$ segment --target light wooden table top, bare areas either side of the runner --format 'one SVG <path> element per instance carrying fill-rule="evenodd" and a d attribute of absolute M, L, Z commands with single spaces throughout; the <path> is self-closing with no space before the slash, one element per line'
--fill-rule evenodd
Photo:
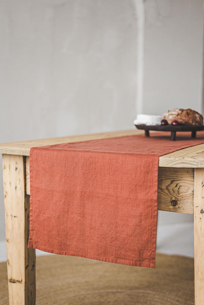
<path fill-rule="evenodd" d="M 29 156 L 31 147 L 54 145 L 60 143 L 95 140 L 102 138 L 121 137 L 125 135 L 138 135 L 143 133 L 143 130 L 124 130 L 103 132 L 89 135 L 77 135 L 62 138 L 48 138 L 39 140 L 29 140 L 21 142 L 11 142 L 0 144 L 0 153 L 9 155 Z M 171 152 L 167 155 L 159 157 L 160 167 L 188 167 L 198 168 L 204 167 L 204 144 L 195 145 L 192 147 L 180 149 L 176 152 Z"/>

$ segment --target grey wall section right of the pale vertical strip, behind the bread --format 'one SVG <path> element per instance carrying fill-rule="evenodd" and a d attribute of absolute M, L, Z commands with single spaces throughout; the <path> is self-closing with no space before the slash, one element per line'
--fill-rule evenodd
<path fill-rule="evenodd" d="M 146 0 L 143 112 L 202 111 L 203 0 Z"/>

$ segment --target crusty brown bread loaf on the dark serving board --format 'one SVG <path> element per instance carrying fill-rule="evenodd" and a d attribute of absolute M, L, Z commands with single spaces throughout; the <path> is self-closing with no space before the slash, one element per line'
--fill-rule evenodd
<path fill-rule="evenodd" d="M 200 113 L 192 109 L 175 108 L 163 114 L 163 118 L 171 124 L 174 120 L 181 125 L 203 125 L 203 117 Z"/>

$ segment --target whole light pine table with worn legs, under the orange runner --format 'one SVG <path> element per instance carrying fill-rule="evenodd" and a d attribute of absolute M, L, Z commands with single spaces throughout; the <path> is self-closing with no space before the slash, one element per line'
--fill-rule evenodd
<path fill-rule="evenodd" d="M 27 247 L 30 148 L 139 133 L 128 130 L 0 144 L 10 305 L 35 304 L 35 249 Z M 194 214 L 195 304 L 204 305 L 204 144 L 159 158 L 158 210 Z"/>

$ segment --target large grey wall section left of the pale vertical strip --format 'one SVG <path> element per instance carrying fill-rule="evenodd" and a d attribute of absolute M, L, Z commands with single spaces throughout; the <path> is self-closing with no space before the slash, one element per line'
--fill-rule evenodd
<path fill-rule="evenodd" d="M 0 14 L 0 142 L 133 127 L 134 1 L 2 0 Z"/>

